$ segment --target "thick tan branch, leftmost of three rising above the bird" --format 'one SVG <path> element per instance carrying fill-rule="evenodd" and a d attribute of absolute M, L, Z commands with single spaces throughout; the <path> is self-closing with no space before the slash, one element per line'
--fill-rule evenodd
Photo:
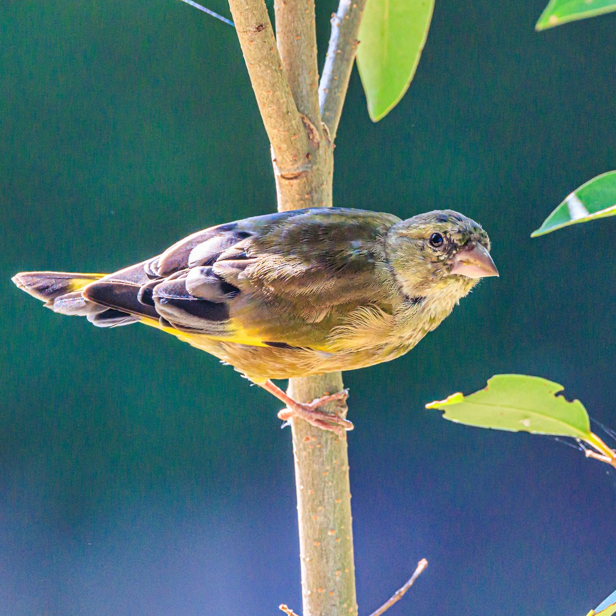
<path fill-rule="evenodd" d="M 241 51 L 278 169 L 301 171 L 314 144 L 293 99 L 263 0 L 229 0 Z"/>

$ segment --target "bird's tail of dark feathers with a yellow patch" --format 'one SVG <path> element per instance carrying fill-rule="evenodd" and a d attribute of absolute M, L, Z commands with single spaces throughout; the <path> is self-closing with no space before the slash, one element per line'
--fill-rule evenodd
<path fill-rule="evenodd" d="M 22 291 L 44 302 L 54 312 L 87 320 L 99 327 L 134 323 L 136 318 L 84 298 L 82 291 L 107 274 L 73 272 L 20 272 L 11 279 Z"/>

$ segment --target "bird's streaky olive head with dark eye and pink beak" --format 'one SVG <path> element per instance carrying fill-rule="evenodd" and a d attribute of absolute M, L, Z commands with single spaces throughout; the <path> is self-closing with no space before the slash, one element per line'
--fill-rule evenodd
<path fill-rule="evenodd" d="M 479 278 L 498 276 L 488 234 L 451 209 L 418 214 L 394 225 L 387 233 L 387 256 L 410 297 L 436 294 L 457 301 Z"/>

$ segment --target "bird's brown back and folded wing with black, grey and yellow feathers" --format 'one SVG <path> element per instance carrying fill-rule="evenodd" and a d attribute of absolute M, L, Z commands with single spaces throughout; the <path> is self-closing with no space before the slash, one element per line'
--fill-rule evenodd
<path fill-rule="evenodd" d="M 84 297 L 230 342 L 320 346 L 347 312 L 386 301 L 384 236 L 398 221 L 342 208 L 247 218 L 110 274 Z"/>

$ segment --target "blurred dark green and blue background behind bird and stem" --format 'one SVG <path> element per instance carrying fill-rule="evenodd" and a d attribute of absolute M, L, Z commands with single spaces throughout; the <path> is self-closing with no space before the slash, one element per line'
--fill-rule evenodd
<path fill-rule="evenodd" d="M 351 79 L 334 203 L 460 209 L 501 274 L 407 356 L 346 374 L 360 614 L 424 556 L 391 616 L 583 616 L 616 587 L 613 469 L 424 408 L 519 372 L 616 426 L 616 219 L 529 237 L 616 167 L 616 15 L 538 34 L 545 1 L 437 0 L 379 124 Z M 317 5 L 323 55 L 335 6 Z M 171 336 L 99 330 L 10 283 L 274 209 L 233 28 L 175 0 L 0 4 L 1 615 L 301 611 L 280 403 Z"/>

